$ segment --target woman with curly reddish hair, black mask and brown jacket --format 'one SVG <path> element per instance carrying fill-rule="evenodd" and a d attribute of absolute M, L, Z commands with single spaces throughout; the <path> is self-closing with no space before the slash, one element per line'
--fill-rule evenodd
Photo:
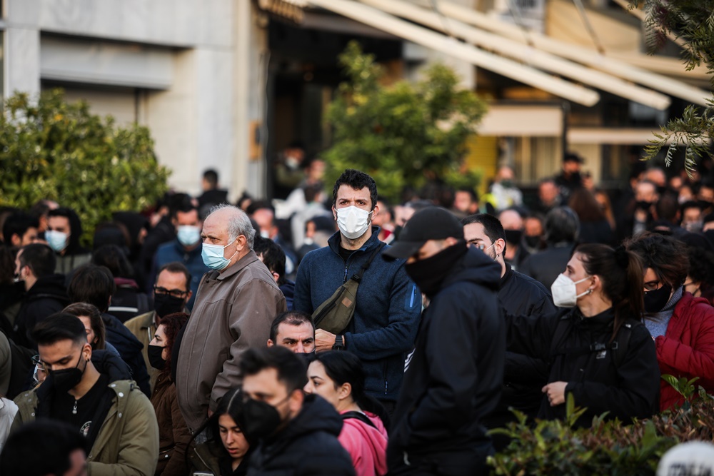
<path fill-rule="evenodd" d="M 188 320 L 186 313 L 165 315 L 159 321 L 154 339 L 149 343 L 147 352 L 151 366 L 160 370 L 156 378 L 151 405 L 156 411 L 159 423 L 159 464 L 156 475 L 186 475 L 186 447 L 191 441 L 191 432 L 178 409 L 176 385 L 171 380 L 171 349 L 174 348 L 176 335 Z"/>

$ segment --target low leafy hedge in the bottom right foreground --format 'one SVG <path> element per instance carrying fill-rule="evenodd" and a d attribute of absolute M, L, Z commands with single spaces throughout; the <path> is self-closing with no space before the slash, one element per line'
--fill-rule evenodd
<path fill-rule="evenodd" d="M 714 397 L 703 389 L 693 390 L 693 380 L 673 383 L 689 400 L 682 407 L 623 425 L 620 420 L 605 420 L 607 413 L 595 417 L 590 428 L 574 428 L 585 409 L 575 407 L 568 395 L 565 420 L 536 420 L 518 417 L 506 428 L 492 433 L 511 437 L 503 452 L 489 457 L 492 474 L 526 475 L 655 475 L 662 455 L 679 442 L 714 440 Z"/>

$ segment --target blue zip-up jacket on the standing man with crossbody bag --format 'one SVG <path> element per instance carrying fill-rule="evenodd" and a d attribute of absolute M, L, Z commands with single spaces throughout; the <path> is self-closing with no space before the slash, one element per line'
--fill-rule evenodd
<path fill-rule="evenodd" d="M 312 314 L 347 279 L 360 270 L 379 245 L 379 228 L 347 262 L 340 256 L 340 232 L 326 248 L 313 250 L 300 263 L 293 309 Z M 385 246 L 365 271 L 357 288 L 355 315 L 345 336 L 345 349 L 357 355 L 367 375 L 367 393 L 396 401 L 421 316 L 421 292 L 404 270 L 404 260 L 388 260 Z"/>

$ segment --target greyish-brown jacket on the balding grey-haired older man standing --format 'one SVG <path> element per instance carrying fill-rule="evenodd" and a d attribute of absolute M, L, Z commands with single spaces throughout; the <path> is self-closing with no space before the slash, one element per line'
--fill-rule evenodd
<path fill-rule="evenodd" d="M 178 406 L 195 432 L 218 400 L 238 385 L 238 363 L 265 347 L 270 325 L 286 310 L 273 275 L 251 251 L 230 268 L 203 275 L 176 362 Z"/>

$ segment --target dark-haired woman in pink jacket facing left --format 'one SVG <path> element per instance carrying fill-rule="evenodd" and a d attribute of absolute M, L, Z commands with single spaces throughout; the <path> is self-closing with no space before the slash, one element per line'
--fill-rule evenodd
<path fill-rule="evenodd" d="M 352 458 L 357 476 L 387 472 L 386 412 L 364 391 L 365 373 L 356 355 L 332 350 L 315 355 L 308 367 L 305 393 L 316 393 L 342 415 L 338 437 Z"/>

